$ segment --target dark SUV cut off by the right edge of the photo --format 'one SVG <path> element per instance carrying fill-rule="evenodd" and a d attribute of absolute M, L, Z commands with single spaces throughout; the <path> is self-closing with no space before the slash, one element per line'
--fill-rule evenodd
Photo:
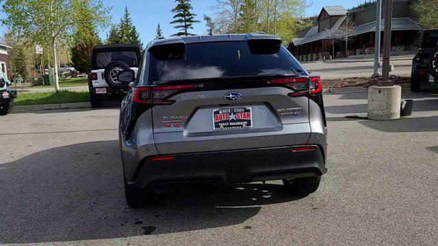
<path fill-rule="evenodd" d="M 438 29 L 422 31 L 412 61 L 411 91 L 420 92 L 422 85 L 430 80 L 438 83 Z"/>

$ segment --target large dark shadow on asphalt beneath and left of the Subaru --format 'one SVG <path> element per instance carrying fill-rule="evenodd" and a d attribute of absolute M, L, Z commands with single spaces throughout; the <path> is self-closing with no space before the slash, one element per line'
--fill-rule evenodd
<path fill-rule="evenodd" d="M 300 199 L 279 184 L 175 189 L 142 209 L 125 203 L 118 141 L 43 150 L 0 164 L 0 243 L 119 238 L 244 223 L 262 204 Z M 243 226 L 242 226 L 243 227 Z"/>

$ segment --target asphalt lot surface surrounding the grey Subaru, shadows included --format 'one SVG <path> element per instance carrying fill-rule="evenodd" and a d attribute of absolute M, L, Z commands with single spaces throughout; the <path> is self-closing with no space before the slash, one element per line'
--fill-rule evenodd
<path fill-rule="evenodd" d="M 308 197 L 278 182 L 178 189 L 134 210 L 123 196 L 117 109 L 1 118 L 0 243 L 436 245 L 438 98 L 412 117 L 347 119 L 366 94 L 326 94 L 329 173 Z"/>

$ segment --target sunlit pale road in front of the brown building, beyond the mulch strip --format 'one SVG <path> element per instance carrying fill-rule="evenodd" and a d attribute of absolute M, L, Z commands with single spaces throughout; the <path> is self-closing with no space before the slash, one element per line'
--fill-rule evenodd
<path fill-rule="evenodd" d="M 400 59 L 401 58 L 401 59 Z M 400 77 L 411 77 L 412 56 L 396 57 L 391 61 L 394 72 L 391 74 Z M 333 60 L 331 62 L 315 61 L 304 63 L 303 66 L 313 75 L 320 75 L 322 79 L 345 79 L 355 77 L 371 77 L 374 73 L 374 61 L 370 59 Z"/>

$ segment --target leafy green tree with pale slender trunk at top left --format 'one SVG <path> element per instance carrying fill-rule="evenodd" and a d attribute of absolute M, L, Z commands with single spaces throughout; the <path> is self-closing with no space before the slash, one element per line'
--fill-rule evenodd
<path fill-rule="evenodd" d="M 80 23 L 89 21 L 96 26 L 107 23 L 109 8 L 102 0 L 4 0 L 1 6 L 6 17 L 1 23 L 16 35 L 38 44 L 50 44 L 55 65 L 55 90 L 60 90 L 57 57 L 58 44 L 70 42 Z M 92 12 L 84 20 L 79 12 Z"/>

